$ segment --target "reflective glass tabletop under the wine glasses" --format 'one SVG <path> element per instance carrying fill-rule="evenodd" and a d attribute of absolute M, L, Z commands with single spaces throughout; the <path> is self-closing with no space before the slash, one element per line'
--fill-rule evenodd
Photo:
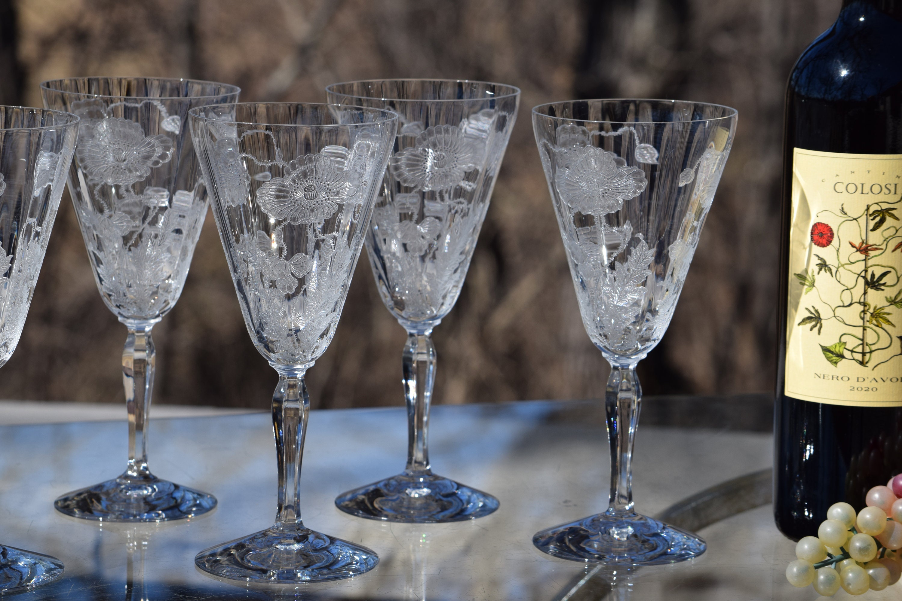
<path fill-rule="evenodd" d="M 649 412 L 649 415 L 653 415 Z M 338 511 L 342 491 L 391 475 L 406 457 L 401 407 L 313 411 L 304 453 L 305 524 L 377 551 L 373 571 L 344 581 L 244 587 L 195 569 L 198 551 L 272 523 L 276 496 L 268 414 L 154 420 L 152 469 L 210 492 L 210 514 L 167 524 L 99 524 L 53 510 L 53 499 L 114 477 L 124 423 L 0 427 L 0 533 L 5 544 L 54 555 L 59 581 L 21 599 L 809 599 L 783 575 L 794 545 L 769 506 L 701 531 L 708 551 L 674 566 L 624 572 L 557 560 L 542 528 L 603 510 L 608 451 L 603 406 L 534 401 L 433 408 L 435 469 L 492 493 L 501 508 L 454 524 L 389 524 Z M 635 457 L 638 509 L 680 499 L 771 464 L 769 433 L 643 424 Z M 578 475 L 578 476 L 577 476 Z M 895 587 L 893 587 L 895 588 Z M 892 588 L 870 592 L 890 598 Z"/>

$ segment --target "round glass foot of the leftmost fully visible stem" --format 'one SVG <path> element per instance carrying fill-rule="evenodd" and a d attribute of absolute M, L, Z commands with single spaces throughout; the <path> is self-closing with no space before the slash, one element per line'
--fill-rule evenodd
<path fill-rule="evenodd" d="M 216 507 L 216 497 L 152 475 L 122 475 L 60 496 L 53 506 L 86 520 L 164 522 L 206 514 Z"/>

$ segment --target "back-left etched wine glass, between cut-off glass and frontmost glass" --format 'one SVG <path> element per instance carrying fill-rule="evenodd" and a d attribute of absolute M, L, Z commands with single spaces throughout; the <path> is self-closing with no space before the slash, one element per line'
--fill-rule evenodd
<path fill-rule="evenodd" d="M 118 478 L 60 496 L 63 514 L 159 522 L 204 514 L 216 498 L 147 467 L 156 352 L 151 331 L 179 300 L 207 190 L 185 120 L 235 102 L 235 86 L 192 79 L 77 77 L 41 84 L 44 105 L 81 117 L 69 195 L 106 306 L 128 329 L 122 354 L 128 465 Z"/>

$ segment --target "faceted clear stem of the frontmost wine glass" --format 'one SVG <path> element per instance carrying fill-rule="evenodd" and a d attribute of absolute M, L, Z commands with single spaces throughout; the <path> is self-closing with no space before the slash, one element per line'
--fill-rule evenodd
<path fill-rule="evenodd" d="M 279 501 L 276 528 L 299 530 L 300 467 L 304 457 L 304 436 L 310 411 L 310 397 L 304 374 L 307 367 L 279 366 L 279 384 L 272 394 L 272 429 L 279 461 Z"/>

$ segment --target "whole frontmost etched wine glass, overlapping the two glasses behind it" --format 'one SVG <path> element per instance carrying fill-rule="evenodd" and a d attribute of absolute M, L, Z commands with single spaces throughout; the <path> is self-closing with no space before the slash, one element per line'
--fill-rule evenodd
<path fill-rule="evenodd" d="M 239 104 L 190 112 L 247 331 L 279 373 L 272 425 L 275 524 L 201 551 L 222 578 L 302 582 L 373 569 L 365 547 L 314 532 L 300 516 L 309 398 L 304 374 L 335 334 L 398 117 L 360 106 Z"/>

